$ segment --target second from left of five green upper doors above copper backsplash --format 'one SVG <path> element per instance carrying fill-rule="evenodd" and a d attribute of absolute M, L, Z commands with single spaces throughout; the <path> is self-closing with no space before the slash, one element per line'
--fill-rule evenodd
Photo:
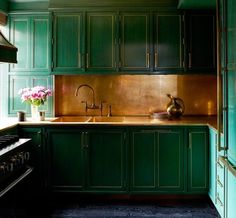
<path fill-rule="evenodd" d="M 115 70 L 116 17 L 113 13 L 87 15 L 87 70 Z"/>

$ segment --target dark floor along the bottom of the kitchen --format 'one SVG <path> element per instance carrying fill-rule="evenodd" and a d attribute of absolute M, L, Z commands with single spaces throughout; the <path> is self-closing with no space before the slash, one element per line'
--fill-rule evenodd
<path fill-rule="evenodd" d="M 217 218 L 208 198 L 195 200 L 128 200 L 58 196 L 11 196 L 0 200 L 0 218 Z"/>

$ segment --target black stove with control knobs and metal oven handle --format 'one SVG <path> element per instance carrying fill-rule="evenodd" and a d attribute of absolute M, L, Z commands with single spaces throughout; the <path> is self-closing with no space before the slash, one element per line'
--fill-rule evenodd
<path fill-rule="evenodd" d="M 30 142 L 18 135 L 0 136 L 0 197 L 32 173 Z"/>

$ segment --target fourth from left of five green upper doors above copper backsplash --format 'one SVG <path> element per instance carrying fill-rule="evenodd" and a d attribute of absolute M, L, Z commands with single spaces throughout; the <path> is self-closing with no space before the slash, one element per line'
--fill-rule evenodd
<path fill-rule="evenodd" d="M 155 70 L 182 68 L 181 15 L 155 16 Z"/>

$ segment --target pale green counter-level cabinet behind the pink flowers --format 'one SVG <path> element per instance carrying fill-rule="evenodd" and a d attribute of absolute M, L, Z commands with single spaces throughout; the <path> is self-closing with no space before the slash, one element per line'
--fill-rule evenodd
<path fill-rule="evenodd" d="M 20 89 L 34 86 L 45 86 L 53 89 L 53 78 L 50 75 L 9 75 L 8 78 L 9 116 L 16 116 L 17 111 L 24 111 L 27 116 L 30 116 L 30 104 L 22 102 L 21 96 L 18 94 Z M 53 116 L 53 96 L 48 97 L 45 104 L 40 106 L 40 110 L 44 110 L 46 116 Z"/>

